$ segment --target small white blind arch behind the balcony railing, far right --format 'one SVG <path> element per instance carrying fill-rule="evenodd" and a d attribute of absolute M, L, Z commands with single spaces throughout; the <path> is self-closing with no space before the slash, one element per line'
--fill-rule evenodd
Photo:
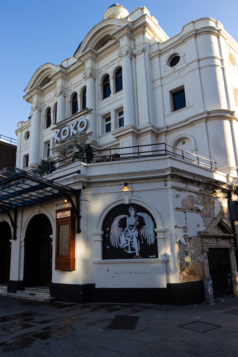
<path fill-rule="evenodd" d="M 188 154 L 189 152 L 195 155 L 197 154 L 195 140 L 192 135 L 181 134 L 176 136 L 176 138 L 173 139 L 171 146 L 174 146 L 174 148 L 172 149 L 174 154 L 178 154 L 180 156 L 195 160 L 195 157 L 193 155 Z"/>

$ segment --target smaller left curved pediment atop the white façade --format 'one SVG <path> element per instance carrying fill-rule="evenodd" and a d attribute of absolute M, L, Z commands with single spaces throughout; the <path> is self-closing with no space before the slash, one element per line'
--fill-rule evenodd
<path fill-rule="evenodd" d="M 46 63 L 42 65 L 34 75 L 31 77 L 29 84 L 27 85 L 24 92 L 28 93 L 35 86 L 42 88 L 48 83 L 50 83 L 51 75 L 60 69 L 60 66 L 55 66 L 51 63 Z"/>

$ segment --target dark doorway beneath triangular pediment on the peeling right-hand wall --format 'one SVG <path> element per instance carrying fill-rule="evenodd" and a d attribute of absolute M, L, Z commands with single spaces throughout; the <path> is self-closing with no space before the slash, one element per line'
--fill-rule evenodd
<path fill-rule="evenodd" d="M 214 299 L 233 295 L 229 248 L 209 248 L 208 262 Z"/>

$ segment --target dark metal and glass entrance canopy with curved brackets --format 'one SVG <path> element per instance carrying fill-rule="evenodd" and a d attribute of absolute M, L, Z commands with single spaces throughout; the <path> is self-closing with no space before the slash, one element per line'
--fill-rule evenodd
<path fill-rule="evenodd" d="M 12 239 L 16 239 L 17 210 L 54 201 L 65 196 L 74 210 L 77 232 L 80 232 L 79 198 L 80 190 L 39 177 L 31 172 L 7 167 L 0 171 L 0 213 L 7 214 L 13 227 Z M 71 196 L 75 196 L 75 203 Z M 10 215 L 14 211 L 14 217 Z"/>

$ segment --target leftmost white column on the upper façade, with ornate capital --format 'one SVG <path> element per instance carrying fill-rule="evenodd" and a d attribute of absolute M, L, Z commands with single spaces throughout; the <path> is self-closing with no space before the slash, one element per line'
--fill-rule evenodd
<path fill-rule="evenodd" d="M 39 164 L 40 156 L 40 112 L 41 105 L 36 103 L 31 107 L 31 129 L 29 147 L 29 166 Z"/>

